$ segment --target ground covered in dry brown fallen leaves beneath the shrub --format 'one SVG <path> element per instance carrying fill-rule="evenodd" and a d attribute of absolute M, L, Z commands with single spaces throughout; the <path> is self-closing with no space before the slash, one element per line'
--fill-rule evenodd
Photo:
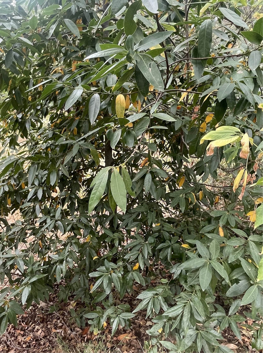
<path fill-rule="evenodd" d="M 134 293 L 126 294 L 122 303 L 129 303 L 131 311 L 138 305 L 137 295 L 143 288 L 134 286 Z M 153 324 L 145 319 L 146 311 L 139 311 L 131 319 L 131 328 L 119 327 L 111 335 L 108 325 L 98 335 L 89 331 L 89 326 L 79 328 L 70 315 L 70 309 L 82 307 L 80 301 L 59 303 L 57 300 L 58 286 L 55 293 L 50 295 L 49 301 L 33 304 L 29 309 L 24 306 L 24 314 L 18 315 L 18 326 L 8 326 L 6 333 L 0 337 L 0 352 L 3 353 L 142 353 L 146 352 L 144 342 L 149 341 L 146 330 Z M 54 307 L 56 310 L 54 311 Z M 246 319 L 239 323 L 241 340 L 230 329 L 223 331 L 224 340 L 220 342 L 233 350 L 233 353 L 257 352 L 251 347 L 253 335 L 252 320 L 245 312 L 239 312 Z M 250 328 L 251 327 L 251 328 Z M 173 337 L 170 337 L 173 342 Z M 175 343 L 175 342 L 174 342 Z"/>

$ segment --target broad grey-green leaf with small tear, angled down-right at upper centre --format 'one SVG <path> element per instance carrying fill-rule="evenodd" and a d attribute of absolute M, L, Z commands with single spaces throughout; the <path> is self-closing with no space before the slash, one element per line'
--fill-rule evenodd
<path fill-rule="evenodd" d="M 148 80 L 154 88 L 163 92 L 164 84 L 161 72 L 150 56 L 145 54 L 136 54 L 134 58 L 136 59 L 139 70 L 142 72 L 146 80 Z"/>

